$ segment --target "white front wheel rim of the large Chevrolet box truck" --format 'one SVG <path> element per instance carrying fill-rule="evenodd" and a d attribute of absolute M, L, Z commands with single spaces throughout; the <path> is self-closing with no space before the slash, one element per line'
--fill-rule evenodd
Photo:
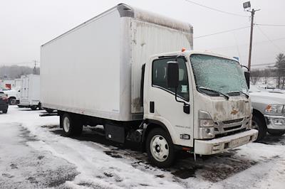
<path fill-rule="evenodd" d="M 169 155 L 169 145 L 161 135 L 155 135 L 150 141 L 150 153 L 156 161 L 165 161 Z"/>

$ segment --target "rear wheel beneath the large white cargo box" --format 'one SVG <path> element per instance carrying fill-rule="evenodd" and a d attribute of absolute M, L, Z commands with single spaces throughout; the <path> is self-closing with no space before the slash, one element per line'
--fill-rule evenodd
<path fill-rule="evenodd" d="M 83 124 L 77 117 L 71 117 L 70 114 L 65 113 L 61 116 L 61 126 L 65 136 L 80 136 L 83 129 Z"/>

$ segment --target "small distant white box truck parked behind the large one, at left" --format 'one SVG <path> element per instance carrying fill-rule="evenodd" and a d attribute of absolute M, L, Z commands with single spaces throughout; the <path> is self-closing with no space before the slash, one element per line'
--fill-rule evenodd
<path fill-rule="evenodd" d="M 21 76 L 21 96 L 19 107 L 29 107 L 33 110 L 41 109 L 40 102 L 40 76 L 22 75 Z"/>

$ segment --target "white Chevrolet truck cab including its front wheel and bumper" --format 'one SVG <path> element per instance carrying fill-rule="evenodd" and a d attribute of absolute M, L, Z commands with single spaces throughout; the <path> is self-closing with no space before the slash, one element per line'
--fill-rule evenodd
<path fill-rule="evenodd" d="M 152 163 L 170 163 L 172 148 L 209 155 L 257 139 L 237 60 L 185 50 L 154 55 L 142 70 L 144 119 L 147 127 L 160 129 L 147 132 Z"/>

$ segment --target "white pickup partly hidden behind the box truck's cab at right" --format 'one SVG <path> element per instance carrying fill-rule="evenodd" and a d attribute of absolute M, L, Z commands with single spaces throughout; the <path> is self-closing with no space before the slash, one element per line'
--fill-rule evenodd
<path fill-rule="evenodd" d="M 249 95 L 253 107 L 252 128 L 259 131 L 257 141 L 266 132 L 273 136 L 285 134 L 285 95 L 261 91 L 255 86 L 250 87 Z"/>

